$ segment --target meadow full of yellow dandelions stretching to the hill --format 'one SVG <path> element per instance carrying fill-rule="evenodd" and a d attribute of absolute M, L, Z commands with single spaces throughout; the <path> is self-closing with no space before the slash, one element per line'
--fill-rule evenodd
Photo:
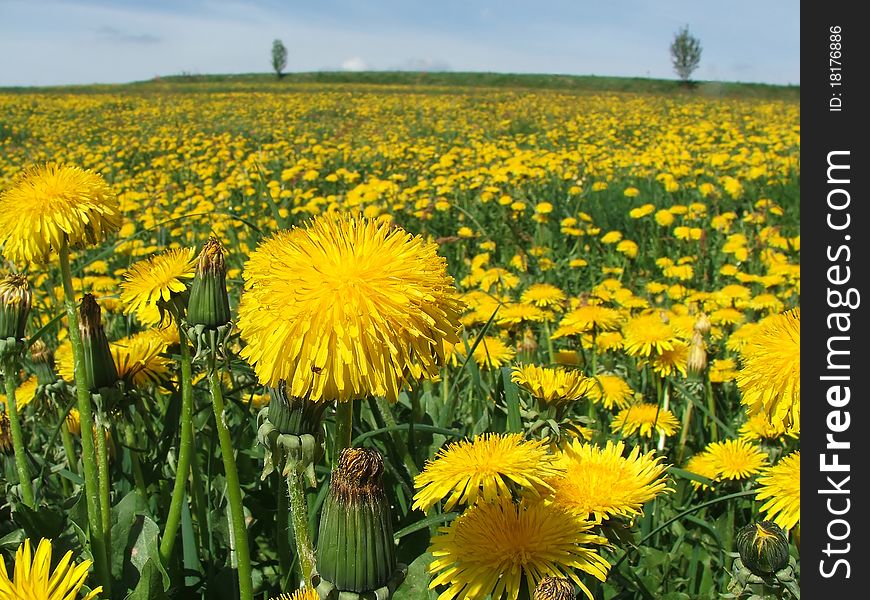
<path fill-rule="evenodd" d="M 799 597 L 799 122 L 0 93 L 0 598 Z"/>

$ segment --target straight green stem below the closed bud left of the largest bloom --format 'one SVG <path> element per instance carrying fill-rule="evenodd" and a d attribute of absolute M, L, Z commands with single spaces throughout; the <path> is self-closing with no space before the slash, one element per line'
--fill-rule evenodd
<path fill-rule="evenodd" d="M 236 542 L 236 559 L 239 569 L 239 600 L 253 600 L 254 583 L 251 575 L 251 557 L 248 551 L 248 530 L 245 526 L 245 512 L 242 505 L 242 488 L 239 485 L 239 473 L 236 469 L 236 459 L 233 455 L 233 442 L 227 429 L 224 414 L 224 397 L 221 392 L 221 382 L 215 369 L 215 356 L 209 356 L 208 383 L 211 391 L 212 407 L 214 408 L 215 428 L 221 446 L 221 456 L 224 461 L 224 475 L 227 480 L 227 499 L 230 505 L 230 519 L 233 526 L 233 537 Z"/>

